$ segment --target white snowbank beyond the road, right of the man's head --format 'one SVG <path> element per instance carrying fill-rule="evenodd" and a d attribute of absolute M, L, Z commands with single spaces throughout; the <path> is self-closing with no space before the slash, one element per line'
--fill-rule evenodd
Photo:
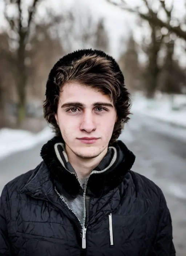
<path fill-rule="evenodd" d="M 133 96 L 132 112 L 186 127 L 186 95 L 173 95 L 172 104 L 169 95 L 159 93 L 154 100 L 148 100 L 138 92 Z"/>

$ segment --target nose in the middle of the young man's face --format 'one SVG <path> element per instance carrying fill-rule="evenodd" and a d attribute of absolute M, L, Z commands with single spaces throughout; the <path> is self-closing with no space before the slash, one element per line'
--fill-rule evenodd
<path fill-rule="evenodd" d="M 80 130 L 91 133 L 96 130 L 96 124 L 93 118 L 93 114 L 89 111 L 85 111 L 82 116 L 82 122 L 80 124 Z"/>

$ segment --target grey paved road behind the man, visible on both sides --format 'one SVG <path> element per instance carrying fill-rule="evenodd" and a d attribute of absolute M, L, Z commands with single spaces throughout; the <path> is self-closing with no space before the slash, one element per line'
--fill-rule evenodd
<path fill-rule="evenodd" d="M 137 156 L 133 171 L 153 180 L 164 192 L 177 256 L 186 256 L 186 131 L 135 114 L 120 139 Z M 41 146 L 0 161 L 0 191 L 9 180 L 40 163 Z"/>

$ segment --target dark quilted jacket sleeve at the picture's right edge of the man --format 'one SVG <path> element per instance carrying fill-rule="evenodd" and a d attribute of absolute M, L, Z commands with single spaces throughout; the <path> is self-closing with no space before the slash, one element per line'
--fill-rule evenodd
<path fill-rule="evenodd" d="M 153 244 L 151 256 L 175 256 L 173 244 L 172 220 L 163 193 L 159 204 L 159 223 L 157 236 Z"/>

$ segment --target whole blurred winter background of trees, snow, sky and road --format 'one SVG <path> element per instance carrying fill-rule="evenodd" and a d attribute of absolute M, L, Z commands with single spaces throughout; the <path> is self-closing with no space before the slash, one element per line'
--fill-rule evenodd
<path fill-rule="evenodd" d="M 120 139 L 165 194 L 186 255 L 186 0 L 0 0 L 0 193 L 40 163 L 48 73 L 66 53 L 112 55 L 132 95 Z"/>

